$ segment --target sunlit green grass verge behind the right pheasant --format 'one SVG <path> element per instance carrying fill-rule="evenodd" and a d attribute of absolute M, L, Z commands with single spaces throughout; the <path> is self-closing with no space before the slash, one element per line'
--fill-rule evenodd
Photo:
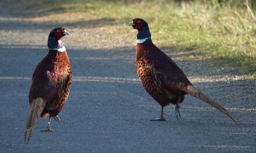
<path fill-rule="evenodd" d="M 152 39 L 161 46 L 193 48 L 190 54 L 220 60 L 247 77 L 256 77 L 255 3 L 246 0 L 193 1 L 44 1 L 52 12 L 83 12 L 99 18 L 129 23 L 133 18 L 148 21 Z M 249 1 L 250 2 L 250 1 Z M 38 6 L 37 6 L 38 7 Z M 121 29 L 130 32 L 130 29 Z M 120 33 L 122 33 L 120 32 Z"/>

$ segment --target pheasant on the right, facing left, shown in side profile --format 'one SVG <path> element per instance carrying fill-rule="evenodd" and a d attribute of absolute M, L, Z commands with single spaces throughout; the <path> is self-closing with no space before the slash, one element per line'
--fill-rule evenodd
<path fill-rule="evenodd" d="M 191 96 L 208 103 L 229 116 L 236 123 L 240 123 L 222 105 L 216 103 L 206 94 L 196 89 L 184 72 L 152 43 L 150 28 L 143 19 L 133 19 L 129 26 L 138 30 L 136 46 L 136 70 L 145 90 L 161 105 L 161 116 L 151 121 L 166 121 L 163 118 L 163 107 L 174 104 L 176 118 L 181 118 L 179 108 L 184 96 Z"/>

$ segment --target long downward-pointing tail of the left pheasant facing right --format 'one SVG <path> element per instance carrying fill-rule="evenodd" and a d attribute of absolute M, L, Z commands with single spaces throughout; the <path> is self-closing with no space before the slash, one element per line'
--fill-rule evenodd
<path fill-rule="evenodd" d="M 29 119 L 27 120 L 27 125 L 24 132 L 24 140 L 26 144 L 29 143 L 31 134 L 35 128 L 35 123 L 37 122 L 37 119 L 39 118 L 45 107 L 44 100 L 42 100 L 41 97 L 34 99 L 31 104 L 32 105 L 30 108 Z"/>

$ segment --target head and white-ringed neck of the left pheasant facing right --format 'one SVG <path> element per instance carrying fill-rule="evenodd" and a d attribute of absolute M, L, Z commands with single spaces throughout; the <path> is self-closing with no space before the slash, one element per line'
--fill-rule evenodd
<path fill-rule="evenodd" d="M 64 52 L 66 50 L 63 45 L 61 38 L 65 35 L 70 35 L 64 28 L 54 28 L 48 37 L 48 48 L 50 50 L 58 50 L 59 52 Z"/>

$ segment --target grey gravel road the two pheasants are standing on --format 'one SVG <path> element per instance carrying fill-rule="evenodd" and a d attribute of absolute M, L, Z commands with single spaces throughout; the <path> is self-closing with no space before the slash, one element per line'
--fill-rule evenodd
<path fill-rule="evenodd" d="M 107 24 L 52 23 L 45 16 L 20 17 L 3 5 L 0 9 L 0 152 L 256 152 L 254 79 L 230 74 L 209 60 L 183 60 L 182 52 L 169 50 L 194 86 L 219 101 L 243 126 L 191 96 L 181 105 L 181 120 L 169 105 L 166 122 L 150 122 L 159 117 L 160 106 L 138 82 L 136 31 L 115 34 L 111 30 L 116 26 L 130 27 L 110 19 Z M 61 122 L 52 122 L 58 132 L 40 132 L 47 128 L 47 120 L 40 118 L 26 145 L 31 75 L 48 52 L 49 31 L 59 26 L 71 34 L 63 38 L 74 76 L 70 96 L 59 114 Z"/>

